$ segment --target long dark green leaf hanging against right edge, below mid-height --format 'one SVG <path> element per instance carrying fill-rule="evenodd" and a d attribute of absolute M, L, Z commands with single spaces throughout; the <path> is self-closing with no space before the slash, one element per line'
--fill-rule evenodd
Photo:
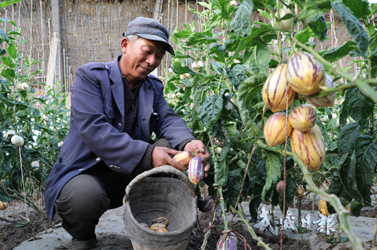
<path fill-rule="evenodd" d="M 377 143 L 373 140 L 369 135 L 361 135 L 355 145 L 357 186 L 365 200 L 369 200 L 370 197 L 374 168 L 377 163 Z"/>

